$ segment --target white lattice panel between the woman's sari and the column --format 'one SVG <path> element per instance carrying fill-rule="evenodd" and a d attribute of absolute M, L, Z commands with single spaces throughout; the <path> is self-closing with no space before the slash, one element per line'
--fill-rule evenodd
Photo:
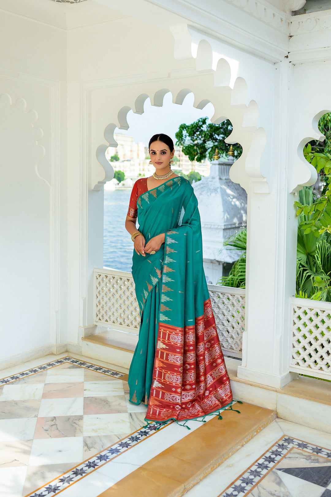
<path fill-rule="evenodd" d="M 208 290 L 223 352 L 241 357 L 245 330 L 245 289 L 208 285 Z"/>

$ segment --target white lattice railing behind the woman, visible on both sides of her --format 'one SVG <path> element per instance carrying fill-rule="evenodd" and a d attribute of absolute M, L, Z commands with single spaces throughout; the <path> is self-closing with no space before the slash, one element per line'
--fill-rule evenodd
<path fill-rule="evenodd" d="M 94 324 L 138 334 L 139 306 L 132 273 L 94 269 Z M 245 289 L 208 285 L 224 355 L 241 357 L 245 324 Z"/>

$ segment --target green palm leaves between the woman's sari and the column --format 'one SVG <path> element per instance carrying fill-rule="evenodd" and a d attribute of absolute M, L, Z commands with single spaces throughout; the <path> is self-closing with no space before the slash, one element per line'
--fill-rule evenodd
<path fill-rule="evenodd" d="M 224 246 L 236 250 L 243 250 L 239 259 L 236 260 L 230 269 L 228 276 L 223 276 L 217 281 L 218 285 L 232 286 L 234 288 L 245 288 L 246 284 L 246 247 L 247 247 L 247 230 L 241 230 L 232 237 L 225 240 Z"/>

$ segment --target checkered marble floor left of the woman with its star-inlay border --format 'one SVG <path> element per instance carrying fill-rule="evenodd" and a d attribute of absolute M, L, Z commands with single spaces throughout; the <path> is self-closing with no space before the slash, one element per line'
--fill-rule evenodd
<path fill-rule="evenodd" d="M 0 495 L 52 497 L 155 433 L 127 379 L 71 357 L 0 379 Z"/>

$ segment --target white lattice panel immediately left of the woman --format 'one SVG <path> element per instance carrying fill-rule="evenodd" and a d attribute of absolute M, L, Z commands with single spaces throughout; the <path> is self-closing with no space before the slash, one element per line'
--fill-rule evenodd
<path fill-rule="evenodd" d="M 139 306 L 131 273 L 95 269 L 95 325 L 138 333 Z"/>

